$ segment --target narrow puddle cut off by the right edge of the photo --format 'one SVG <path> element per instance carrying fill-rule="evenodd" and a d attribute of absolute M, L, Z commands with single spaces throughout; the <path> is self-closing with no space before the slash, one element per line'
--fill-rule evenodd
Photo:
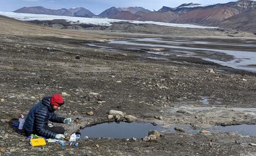
<path fill-rule="evenodd" d="M 228 133 L 235 132 L 244 136 L 256 136 L 256 125 L 231 125 L 231 126 L 216 126 L 211 128 L 213 133 Z"/>

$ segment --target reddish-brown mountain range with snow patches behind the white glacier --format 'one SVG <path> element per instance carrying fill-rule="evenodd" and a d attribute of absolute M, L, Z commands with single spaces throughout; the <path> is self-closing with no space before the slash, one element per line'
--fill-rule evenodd
<path fill-rule="evenodd" d="M 202 6 L 201 4 L 185 3 L 178 7 L 163 6 L 157 11 L 144 9 L 143 7 L 111 7 L 95 15 L 83 7 L 72 9 L 46 9 L 44 7 L 22 7 L 15 10 L 18 13 L 67 15 L 75 17 L 114 18 L 121 20 L 142 20 L 154 22 L 190 23 L 237 30 L 249 30 L 255 32 L 256 2 L 240 0 L 224 4 Z M 242 22 L 241 22 L 242 20 Z M 247 23 L 244 25 L 244 23 Z M 247 28 L 249 27 L 249 29 Z"/>

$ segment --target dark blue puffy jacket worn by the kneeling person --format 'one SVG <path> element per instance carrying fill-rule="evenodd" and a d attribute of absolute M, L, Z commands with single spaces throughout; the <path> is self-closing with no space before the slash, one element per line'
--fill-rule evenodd
<path fill-rule="evenodd" d="M 46 138 L 55 138 L 56 133 L 45 128 L 48 121 L 63 123 L 64 118 L 57 117 L 50 104 L 51 97 L 44 97 L 41 102 L 30 109 L 23 129 L 27 135 L 38 134 Z"/>

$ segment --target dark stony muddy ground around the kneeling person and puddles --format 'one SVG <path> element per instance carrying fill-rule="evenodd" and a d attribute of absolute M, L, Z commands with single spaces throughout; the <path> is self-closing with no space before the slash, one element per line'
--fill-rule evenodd
<path fill-rule="evenodd" d="M 152 59 L 145 57 L 141 49 L 129 51 L 118 44 L 114 49 L 90 46 L 104 39 L 152 37 L 142 32 L 81 32 L 91 33 L 93 40 L 82 35 L 68 37 L 72 35 L 68 30 L 56 31 L 61 31 L 61 35 L 64 31 L 69 33 L 66 38 L 1 33 L 0 155 L 256 154 L 255 136 L 213 131 L 220 125 L 256 123 L 256 73 L 198 57 L 169 55 L 168 60 Z M 153 35 L 156 36 L 161 35 Z M 223 36 L 202 35 L 196 39 L 242 42 L 241 38 Z M 255 42 L 254 36 L 245 37 Z M 154 141 L 89 138 L 80 139 L 78 147 L 54 143 L 32 147 L 11 121 L 19 118 L 20 113 L 27 115 L 42 97 L 55 92 L 62 93 L 66 101 L 56 113 L 74 119 L 70 125 L 64 125 L 68 134 L 95 123 L 113 121 L 108 119 L 109 110 L 136 117 L 132 121 L 161 125 L 164 131 Z"/>

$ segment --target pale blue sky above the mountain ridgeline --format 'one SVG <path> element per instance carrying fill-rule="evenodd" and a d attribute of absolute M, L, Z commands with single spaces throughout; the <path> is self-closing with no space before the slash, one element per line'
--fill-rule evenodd
<path fill-rule="evenodd" d="M 100 14 L 109 7 L 144 7 L 148 10 L 159 10 L 163 6 L 177 7 L 183 3 L 198 4 L 226 3 L 233 0 L 0 0 L 0 11 L 12 12 L 21 7 L 43 6 L 48 9 L 69 9 L 84 7 L 93 14 Z M 237 0 L 234 0 L 237 1 Z"/>

